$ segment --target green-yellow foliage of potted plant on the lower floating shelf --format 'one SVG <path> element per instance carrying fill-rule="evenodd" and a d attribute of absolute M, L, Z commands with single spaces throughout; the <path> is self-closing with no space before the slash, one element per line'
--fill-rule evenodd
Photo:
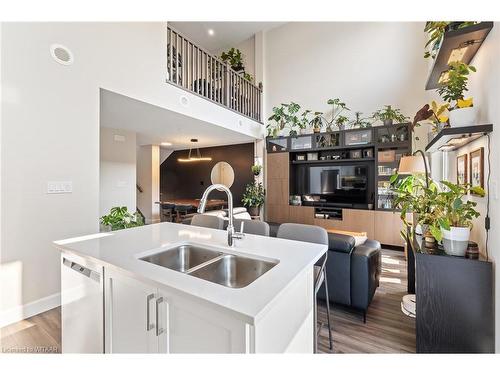
<path fill-rule="evenodd" d="M 472 106 L 472 99 L 465 100 L 464 93 L 468 91 L 469 74 L 475 71 L 475 67 L 462 62 L 455 61 L 449 64 L 444 83 L 437 92 L 449 103 L 450 110 Z"/>

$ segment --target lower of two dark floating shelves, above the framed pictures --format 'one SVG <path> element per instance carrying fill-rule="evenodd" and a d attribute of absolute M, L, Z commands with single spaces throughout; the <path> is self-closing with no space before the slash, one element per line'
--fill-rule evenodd
<path fill-rule="evenodd" d="M 492 124 L 444 128 L 429 142 L 425 151 L 454 151 L 492 131 Z"/>

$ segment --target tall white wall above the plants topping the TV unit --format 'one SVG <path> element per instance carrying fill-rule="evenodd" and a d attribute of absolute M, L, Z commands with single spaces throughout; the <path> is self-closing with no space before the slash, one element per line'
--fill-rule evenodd
<path fill-rule="evenodd" d="M 289 101 L 328 112 L 326 101 L 336 97 L 352 113 L 368 116 L 392 104 L 413 118 L 429 99 L 423 28 L 419 22 L 296 22 L 271 29 L 265 33 L 266 118 Z"/>

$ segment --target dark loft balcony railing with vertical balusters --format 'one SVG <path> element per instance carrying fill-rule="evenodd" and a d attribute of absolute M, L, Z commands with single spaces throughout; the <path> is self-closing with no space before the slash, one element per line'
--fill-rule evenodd
<path fill-rule="evenodd" d="M 262 122 L 259 87 L 171 27 L 167 43 L 168 83 Z"/>

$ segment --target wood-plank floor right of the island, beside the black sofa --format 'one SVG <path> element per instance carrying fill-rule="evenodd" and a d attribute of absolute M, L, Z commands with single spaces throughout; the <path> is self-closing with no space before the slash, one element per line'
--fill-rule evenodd
<path fill-rule="evenodd" d="M 415 319 L 401 312 L 406 294 L 406 260 L 403 252 L 382 250 L 380 286 L 368 308 L 366 324 L 361 313 L 333 306 L 331 322 L 334 353 L 415 353 Z M 326 305 L 318 306 L 318 349 L 330 353 Z"/>

